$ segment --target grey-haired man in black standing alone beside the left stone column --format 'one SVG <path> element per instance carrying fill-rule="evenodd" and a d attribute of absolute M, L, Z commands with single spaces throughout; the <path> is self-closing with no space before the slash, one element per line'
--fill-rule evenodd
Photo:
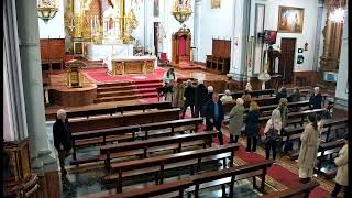
<path fill-rule="evenodd" d="M 56 121 L 53 125 L 53 136 L 54 146 L 58 153 L 62 174 L 66 175 L 65 158 L 72 154 L 73 139 L 66 111 L 64 109 L 57 111 Z"/>

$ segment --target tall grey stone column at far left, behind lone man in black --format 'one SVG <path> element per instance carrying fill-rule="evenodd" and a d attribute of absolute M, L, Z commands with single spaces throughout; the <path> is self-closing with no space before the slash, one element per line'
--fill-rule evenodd
<path fill-rule="evenodd" d="M 56 163 L 51 156 L 45 129 L 45 110 L 36 0 L 15 1 L 25 116 L 33 168 Z"/>

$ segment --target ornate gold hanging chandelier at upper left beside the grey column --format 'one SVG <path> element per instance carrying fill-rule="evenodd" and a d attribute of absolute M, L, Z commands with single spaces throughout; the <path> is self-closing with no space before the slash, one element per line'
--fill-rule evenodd
<path fill-rule="evenodd" d="M 53 19 L 58 11 L 58 6 L 56 0 L 38 0 L 37 1 L 37 15 L 41 18 L 45 23 L 48 20 Z"/>

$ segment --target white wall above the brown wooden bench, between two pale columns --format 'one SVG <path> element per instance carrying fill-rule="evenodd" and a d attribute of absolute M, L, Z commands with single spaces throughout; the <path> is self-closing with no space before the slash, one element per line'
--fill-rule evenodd
<path fill-rule="evenodd" d="M 220 9 L 211 9 L 211 0 L 201 1 L 199 62 L 206 62 L 206 55 L 211 54 L 212 38 L 231 38 L 233 3 L 234 0 L 221 0 Z"/>

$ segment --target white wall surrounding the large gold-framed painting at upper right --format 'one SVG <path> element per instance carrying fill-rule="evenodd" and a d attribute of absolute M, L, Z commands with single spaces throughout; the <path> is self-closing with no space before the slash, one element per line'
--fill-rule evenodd
<path fill-rule="evenodd" d="M 279 6 L 297 7 L 305 9 L 302 33 L 277 33 L 276 46 L 280 46 L 280 40 L 283 37 L 297 38 L 294 70 L 311 70 L 316 51 L 315 41 L 318 14 L 318 0 L 267 0 L 265 7 L 265 30 L 277 30 Z M 308 43 L 308 51 L 304 51 L 302 53 L 305 62 L 302 64 L 297 64 L 297 50 L 304 48 L 306 42 Z M 276 46 L 274 45 L 274 48 Z"/>

